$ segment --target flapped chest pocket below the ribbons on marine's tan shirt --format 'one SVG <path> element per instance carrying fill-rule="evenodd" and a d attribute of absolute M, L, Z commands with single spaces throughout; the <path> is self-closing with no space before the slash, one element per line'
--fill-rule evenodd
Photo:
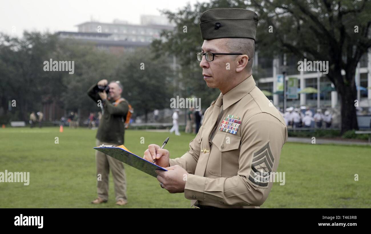
<path fill-rule="evenodd" d="M 210 152 L 207 170 L 219 177 L 236 176 L 239 168 L 241 137 L 217 130 Z"/>

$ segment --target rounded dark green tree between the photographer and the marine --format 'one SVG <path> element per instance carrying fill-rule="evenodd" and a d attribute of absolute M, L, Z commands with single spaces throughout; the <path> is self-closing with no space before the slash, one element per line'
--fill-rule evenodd
<path fill-rule="evenodd" d="M 126 98 L 135 114 L 147 114 L 154 109 L 170 107 L 171 69 L 166 56 L 157 57 L 149 48 L 138 48 L 124 54 L 115 77 L 122 81 Z"/>

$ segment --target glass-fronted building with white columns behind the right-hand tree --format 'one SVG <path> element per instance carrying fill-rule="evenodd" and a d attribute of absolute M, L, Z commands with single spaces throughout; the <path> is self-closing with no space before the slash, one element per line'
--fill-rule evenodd
<path fill-rule="evenodd" d="M 294 106 L 309 106 L 319 108 L 336 108 L 339 107 L 339 96 L 336 91 L 331 90 L 329 86 L 334 87 L 331 81 L 322 73 L 317 71 L 298 71 L 298 61 L 301 59 L 295 57 L 287 57 L 287 66 L 283 68 L 283 56 L 279 58 L 259 57 L 256 52 L 255 66 L 258 68 L 259 81 L 257 86 L 261 90 L 267 90 L 273 95 L 268 97 L 273 100 L 275 106 L 283 107 L 283 95 L 277 92 L 278 76 L 286 71 L 286 84 L 289 77 L 298 79 L 298 90 L 306 87 L 319 88 L 319 102 L 317 93 L 298 94 L 298 99 L 287 99 L 287 107 Z M 254 71 L 255 73 L 255 71 Z M 342 74 L 345 74 L 342 71 Z M 356 85 L 357 85 L 357 100 L 364 102 L 371 99 L 371 51 L 364 54 L 358 63 L 356 70 Z M 287 87 L 287 85 L 286 85 Z M 367 101 L 366 101 L 367 102 Z M 318 106 L 319 104 L 319 106 Z"/>

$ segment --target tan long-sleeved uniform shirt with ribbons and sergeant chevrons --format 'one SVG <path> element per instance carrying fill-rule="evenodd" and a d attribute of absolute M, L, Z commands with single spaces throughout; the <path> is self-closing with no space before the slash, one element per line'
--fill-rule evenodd
<path fill-rule="evenodd" d="M 190 173 L 184 196 L 192 200 L 191 206 L 198 201 L 220 208 L 259 208 L 273 183 L 267 174 L 257 173 L 277 171 L 286 140 L 283 117 L 250 76 L 219 95 L 205 111 L 190 149 L 170 159 L 170 166 L 179 165 Z"/>

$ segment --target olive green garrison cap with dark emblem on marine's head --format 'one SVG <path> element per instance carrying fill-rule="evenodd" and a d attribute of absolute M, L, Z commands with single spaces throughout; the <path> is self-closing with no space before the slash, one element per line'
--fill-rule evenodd
<path fill-rule="evenodd" d="M 203 40 L 217 38 L 250 38 L 255 41 L 259 17 L 254 11 L 242 8 L 216 8 L 200 16 Z"/>

